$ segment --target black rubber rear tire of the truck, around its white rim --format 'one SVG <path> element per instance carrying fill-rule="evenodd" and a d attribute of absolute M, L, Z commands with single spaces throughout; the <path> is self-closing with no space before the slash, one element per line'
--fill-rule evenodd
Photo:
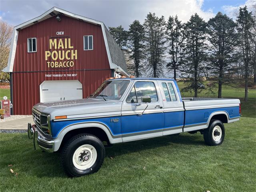
<path fill-rule="evenodd" d="M 213 130 L 215 127 L 221 128 L 221 137 L 218 141 L 214 140 Z M 207 129 L 204 130 L 204 142 L 210 146 L 221 145 L 225 137 L 225 128 L 220 120 L 211 120 Z"/>

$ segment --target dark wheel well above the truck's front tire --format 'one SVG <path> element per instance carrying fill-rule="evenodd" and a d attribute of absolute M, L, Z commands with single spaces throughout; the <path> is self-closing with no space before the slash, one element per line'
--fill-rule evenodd
<path fill-rule="evenodd" d="M 101 128 L 98 127 L 86 127 L 86 128 L 78 128 L 78 129 L 74 129 L 74 130 L 70 130 L 69 132 L 67 132 L 64 136 L 64 138 L 62 139 L 62 142 L 60 144 L 60 148 L 59 150 L 62 148 L 62 146 L 73 136 L 77 135 L 77 134 L 81 134 L 81 133 L 89 133 L 89 134 L 93 134 L 94 136 L 98 137 L 102 142 L 107 142 L 108 144 L 110 144 L 109 140 L 108 140 L 108 136 L 106 134 L 106 132 L 104 130 L 102 130 Z"/>

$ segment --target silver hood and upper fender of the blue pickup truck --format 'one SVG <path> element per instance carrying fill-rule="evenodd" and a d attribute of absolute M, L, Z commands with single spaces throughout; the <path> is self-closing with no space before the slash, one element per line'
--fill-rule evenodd
<path fill-rule="evenodd" d="M 50 114 L 51 120 L 55 116 L 68 116 L 68 118 L 82 118 L 102 116 L 106 113 L 121 112 L 122 102 L 101 99 L 79 99 L 57 102 L 38 103 L 33 108 L 41 113 Z"/>

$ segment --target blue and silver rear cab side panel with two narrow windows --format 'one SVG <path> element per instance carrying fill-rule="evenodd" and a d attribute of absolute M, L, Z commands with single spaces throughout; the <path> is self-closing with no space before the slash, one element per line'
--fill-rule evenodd
<path fill-rule="evenodd" d="M 158 82 L 164 104 L 164 132 L 170 135 L 182 132 L 184 108 L 173 81 Z"/>

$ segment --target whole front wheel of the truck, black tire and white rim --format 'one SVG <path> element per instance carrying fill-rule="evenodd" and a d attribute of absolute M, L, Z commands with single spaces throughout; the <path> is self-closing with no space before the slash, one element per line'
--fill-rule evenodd
<path fill-rule="evenodd" d="M 105 148 L 101 140 L 91 134 L 72 137 L 62 149 L 62 166 L 72 177 L 97 172 L 105 158 Z"/>

